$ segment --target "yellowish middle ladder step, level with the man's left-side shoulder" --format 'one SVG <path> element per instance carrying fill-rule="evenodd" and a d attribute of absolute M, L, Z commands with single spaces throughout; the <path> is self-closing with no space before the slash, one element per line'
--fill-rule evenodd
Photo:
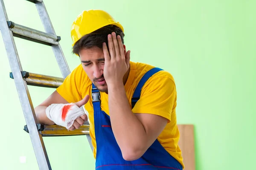
<path fill-rule="evenodd" d="M 58 88 L 64 81 L 64 78 L 29 73 L 27 71 L 21 71 L 21 74 L 27 85 L 38 87 Z M 10 78 L 14 79 L 12 72 L 10 73 Z"/>

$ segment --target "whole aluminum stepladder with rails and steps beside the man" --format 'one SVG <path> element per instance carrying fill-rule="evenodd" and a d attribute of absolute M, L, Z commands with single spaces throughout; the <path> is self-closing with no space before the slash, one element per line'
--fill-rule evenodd
<path fill-rule="evenodd" d="M 65 127 L 58 125 L 42 125 L 37 123 L 38 121 L 35 116 L 28 85 L 57 88 L 64 81 L 64 78 L 70 74 L 70 69 L 67 65 L 63 51 L 61 50 L 61 46 L 59 44 L 61 37 L 57 36 L 54 31 L 43 0 L 27 1 L 35 3 L 45 32 L 28 28 L 26 26 L 21 26 L 12 21 L 9 21 L 3 0 L 0 0 L 0 30 L 12 71 L 10 73 L 10 77 L 14 79 L 26 121 L 24 130 L 29 133 L 39 169 L 51 170 L 52 168 L 47 156 L 46 148 L 44 146 L 43 136 L 86 135 L 91 149 L 93 149 L 93 146 L 91 144 L 91 138 L 89 135 L 88 121 L 85 122 L 84 125 L 79 129 L 74 131 L 68 131 Z M 61 70 L 62 78 L 23 71 L 17 48 L 15 46 L 14 37 L 19 37 L 25 40 L 51 46 L 56 61 L 58 62 L 58 66 Z"/>

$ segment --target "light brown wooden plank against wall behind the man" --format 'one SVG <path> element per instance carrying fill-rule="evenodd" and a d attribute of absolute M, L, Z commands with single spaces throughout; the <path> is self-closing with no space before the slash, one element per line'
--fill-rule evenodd
<path fill-rule="evenodd" d="M 184 170 L 195 170 L 194 125 L 178 125 L 180 141 L 178 142 L 185 164 Z"/>

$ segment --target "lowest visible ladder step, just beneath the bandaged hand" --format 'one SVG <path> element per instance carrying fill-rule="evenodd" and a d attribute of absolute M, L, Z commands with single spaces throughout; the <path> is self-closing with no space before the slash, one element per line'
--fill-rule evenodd
<path fill-rule="evenodd" d="M 43 125 L 37 124 L 38 131 L 42 136 L 74 136 L 74 135 L 89 135 L 90 125 L 82 125 L 78 129 L 73 131 L 67 130 L 66 127 L 59 125 Z M 27 125 L 24 126 L 24 130 L 29 133 Z"/>

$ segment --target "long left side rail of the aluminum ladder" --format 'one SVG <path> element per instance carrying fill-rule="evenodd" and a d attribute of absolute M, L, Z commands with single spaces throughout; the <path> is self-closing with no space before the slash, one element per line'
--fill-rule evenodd
<path fill-rule="evenodd" d="M 36 125 L 36 116 L 33 109 L 31 97 L 28 91 L 28 87 L 21 75 L 22 67 L 20 59 L 17 53 L 14 37 L 12 31 L 9 30 L 7 25 L 8 16 L 3 0 L 0 0 L 0 30 L 5 44 L 6 53 L 9 59 L 9 64 L 14 76 L 14 81 L 17 89 L 17 93 L 20 99 L 20 104 L 23 110 L 23 114 L 29 128 L 29 136 L 34 148 L 35 156 L 38 161 L 38 166 L 41 170 L 51 170 L 47 151 L 44 146 L 42 136 L 38 132 Z"/>

